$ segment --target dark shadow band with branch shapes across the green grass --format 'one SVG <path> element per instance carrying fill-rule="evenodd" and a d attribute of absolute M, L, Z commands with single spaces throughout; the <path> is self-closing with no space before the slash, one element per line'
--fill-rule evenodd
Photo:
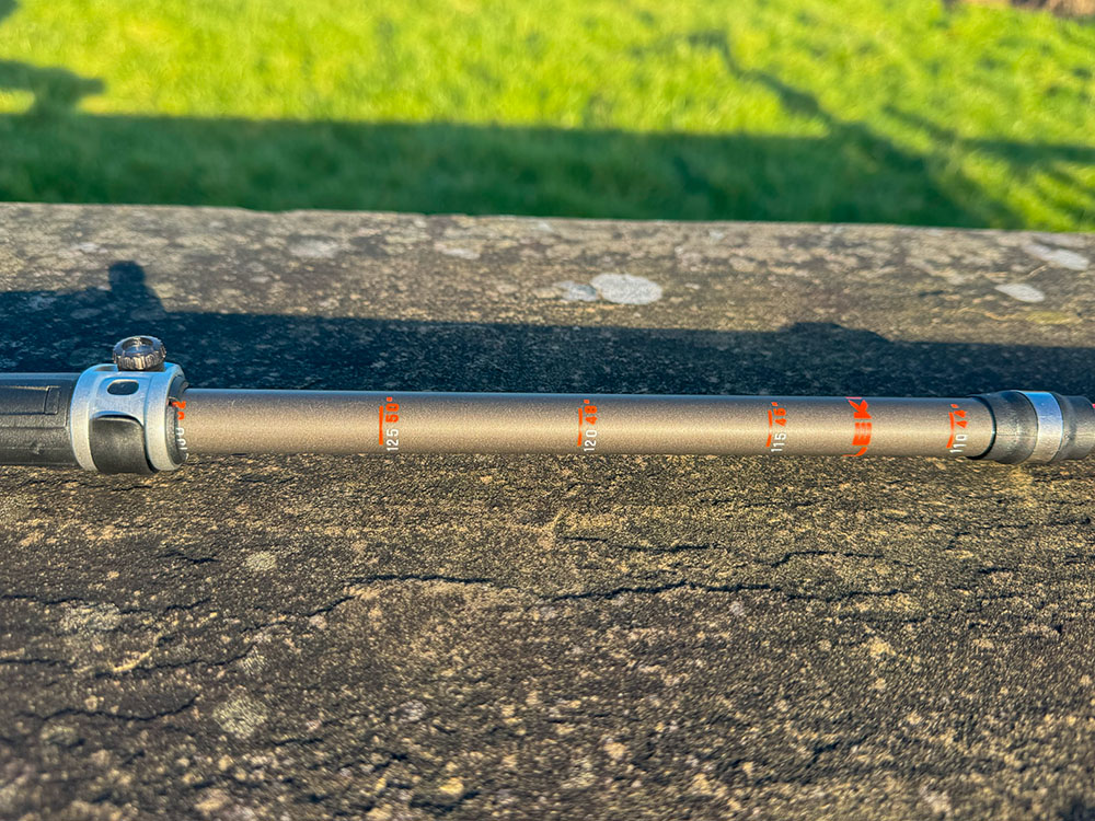
<path fill-rule="evenodd" d="M 0 19 L 13 8 L 0 0 Z M 0 199 L 1023 226 L 947 157 L 899 148 L 775 76 L 741 67 L 725 32 L 685 41 L 716 51 L 728 76 L 823 124 L 826 136 L 94 116 L 74 106 L 102 91 L 101 81 L 2 61 L 0 90 L 31 91 L 35 103 L 25 114 L 0 115 Z M 1084 147 L 986 148 L 1028 173 L 1058 160 L 1095 162 L 1095 149 Z"/>

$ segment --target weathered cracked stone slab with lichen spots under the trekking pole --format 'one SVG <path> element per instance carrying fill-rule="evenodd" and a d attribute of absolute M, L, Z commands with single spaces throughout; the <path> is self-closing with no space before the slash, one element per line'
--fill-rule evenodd
<path fill-rule="evenodd" d="M 1091 395 L 1093 309 L 1090 235 L 0 206 L 8 371 L 152 333 L 201 386 Z M 1093 493 L 1084 462 L 0 469 L 0 818 L 1087 819 Z"/>

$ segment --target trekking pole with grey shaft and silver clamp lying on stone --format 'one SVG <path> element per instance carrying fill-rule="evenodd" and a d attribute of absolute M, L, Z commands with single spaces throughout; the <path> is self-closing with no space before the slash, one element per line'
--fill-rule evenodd
<path fill-rule="evenodd" d="M 0 374 L 0 464 L 151 474 L 189 454 L 667 453 L 1082 459 L 1083 396 L 945 398 L 191 388 L 132 336 L 82 373 Z"/>

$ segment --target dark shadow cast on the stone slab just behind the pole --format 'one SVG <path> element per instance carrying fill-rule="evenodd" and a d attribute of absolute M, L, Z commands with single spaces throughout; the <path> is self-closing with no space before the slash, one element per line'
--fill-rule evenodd
<path fill-rule="evenodd" d="M 0 293 L 0 370 L 82 370 L 107 360 L 120 336 L 150 333 L 201 388 L 941 396 L 1091 390 L 1092 351 L 1083 348 L 906 343 L 828 324 L 757 333 L 168 311 L 134 262 L 113 264 L 110 282 L 110 290 Z"/>

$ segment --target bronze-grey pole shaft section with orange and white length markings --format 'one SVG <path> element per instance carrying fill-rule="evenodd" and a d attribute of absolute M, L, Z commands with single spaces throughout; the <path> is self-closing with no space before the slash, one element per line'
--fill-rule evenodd
<path fill-rule="evenodd" d="M 972 397 L 650 396 L 188 389 L 191 453 L 978 456 Z"/>

